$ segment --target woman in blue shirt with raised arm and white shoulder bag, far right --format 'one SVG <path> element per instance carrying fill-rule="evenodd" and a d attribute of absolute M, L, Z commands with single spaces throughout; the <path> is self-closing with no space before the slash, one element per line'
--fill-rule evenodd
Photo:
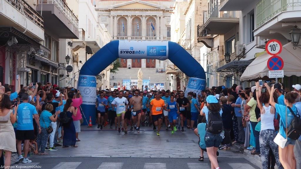
<path fill-rule="evenodd" d="M 271 93 L 275 92 L 275 87 L 272 86 Z M 296 143 L 296 140 L 292 140 L 286 136 L 286 129 L 289 128 L 290 123 L 292 122 L 294 116 L 292 113 L 297 115 L 297 108 L 294 105 L 298 93 L 288 92 L 284 94 L 284 103 L 286 106 L 277 104 L 274 101 L 273 95 L 270 95 L 270 104 L 275 107 L 276 112 L 280 115 L 280 126 L 279 133 L 282 137 L 287 138 L 285 147 L 282 149 L 280 146 L 279 150 L 279 160 L 283 165 L 284 169 L 293 169 L 293 149 Z"/>

